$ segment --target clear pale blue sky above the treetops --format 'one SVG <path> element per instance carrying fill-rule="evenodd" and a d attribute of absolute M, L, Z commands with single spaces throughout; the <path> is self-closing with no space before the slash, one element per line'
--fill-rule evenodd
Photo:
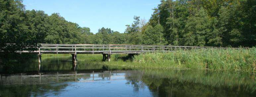
<path fill-rule="evenodd" d="M 160 0 L 24 0 L 23 4 L 27 10 L 60 13 L 67 21 L 90 27 L 94 33 L 101 27 L 122 33 L 133 16 L 149 20 Z"/>

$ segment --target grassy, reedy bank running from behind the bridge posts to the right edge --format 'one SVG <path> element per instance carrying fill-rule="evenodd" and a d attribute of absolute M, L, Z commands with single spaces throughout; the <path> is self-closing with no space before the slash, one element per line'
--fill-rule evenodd
<path fill-rule="evenodd" d="M 5 68 L 13 68 L 13 63 L 23 63 L 22 61 L 25 60 L 26 63 L 37 62 L 36 54 L 22 54 L 20 56 L 26 57 L 13 58 L 8 62 L 9 64 L 5 65 Z M 42 54 L 42 62 L 52 58 L 65 58 L 67 61 L 72 61 L 70 54 Z M 249 50 L 177 50 L 168 53 L 145 53 L 134 57 L 128 56 L 128 54 L 112 54 L 110 62 L 102 62 L 102 54 L 78 54 L 77 58 L 78 65 L 82 63 L 101 64 L 117 69 L 209 69 L 255 72 L 256 48 Z"/>

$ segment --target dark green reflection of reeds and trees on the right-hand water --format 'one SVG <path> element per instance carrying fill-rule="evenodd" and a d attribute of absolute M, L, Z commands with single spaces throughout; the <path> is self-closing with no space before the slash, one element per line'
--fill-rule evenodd
<path fill-rule="evenodd" d="M 158 96 L 253 96 L 255 75 L 225 71 L 150 71 L 127 77 L 136 88 L 145 84 Z M 141 83 L 144 84 L 139 84 Z M 140 86 L 141 85 L 141 86 Z"/>

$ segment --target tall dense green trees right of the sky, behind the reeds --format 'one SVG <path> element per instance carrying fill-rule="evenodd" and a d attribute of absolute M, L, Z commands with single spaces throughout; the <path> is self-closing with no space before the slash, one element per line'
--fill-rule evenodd
<path fill-rule="evenodd" d="M 255 46 L 253 0 L 161 0 L 149 25 L 170 45 Z"/>

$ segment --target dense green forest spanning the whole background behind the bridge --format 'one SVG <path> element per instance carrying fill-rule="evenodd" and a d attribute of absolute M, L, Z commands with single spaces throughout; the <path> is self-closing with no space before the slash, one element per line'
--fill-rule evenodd
<path fill-rule="evenodd" d="M 0 50 L 38 43 L 252 47 L 255 5 L 255 0 L 161 0 L 150 20 L 134 16 L 124 33 L 102 27 L 94 34 L 58 13 L 26 10 L 22 0 L 0 0 Z"/>

